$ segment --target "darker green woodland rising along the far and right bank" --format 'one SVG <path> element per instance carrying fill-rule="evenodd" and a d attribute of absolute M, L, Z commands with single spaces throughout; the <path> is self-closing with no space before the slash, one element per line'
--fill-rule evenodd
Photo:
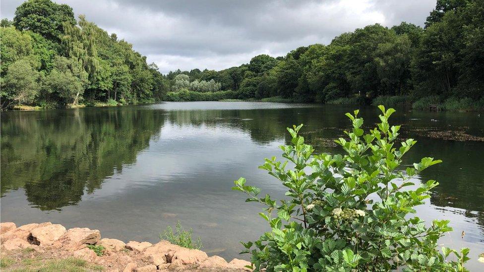
<path fill-rule="evenodd" d="M 188 89 L 191 80 L 214 80 L 238 99 L 369 103 L 430 96 L 431 103 L 467 98 L 484 107 L 484 1 L 438 0 L 424 28 L 368 25 L 283 57 L 262 54 L 221 71 L 177 70 L 167 75 L 172 90 L 180 90 L 180 75 Z"/>

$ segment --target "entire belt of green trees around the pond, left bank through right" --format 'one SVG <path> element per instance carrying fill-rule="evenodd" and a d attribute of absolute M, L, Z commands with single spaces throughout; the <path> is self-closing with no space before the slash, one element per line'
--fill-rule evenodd
<path fill-rule="evenodd" d="M 286 56 L 167 75 L 116 34 L 83 16 L 76 22 L 69 6 L 51 0 L 28 0 L 1 25 L 2 108 L 274 97 L 484 108 L 484 0 L 437 0 L 423 28 L 368 25 Z"/>

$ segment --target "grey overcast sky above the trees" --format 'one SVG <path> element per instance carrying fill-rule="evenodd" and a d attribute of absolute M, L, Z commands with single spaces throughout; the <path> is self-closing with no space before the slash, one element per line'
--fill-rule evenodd
<path fill-rule="evenodd" d="M 22 0 L 1 0 L 13 18 Z M 160 71 L 224 69 L 257 54 L 328 44 L 368 24 L 423 25 L 436 0 L 56 0 L 116 33 Z"/>

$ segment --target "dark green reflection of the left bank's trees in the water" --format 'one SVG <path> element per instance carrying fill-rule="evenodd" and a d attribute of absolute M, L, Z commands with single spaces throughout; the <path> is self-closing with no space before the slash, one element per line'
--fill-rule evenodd
<path fill-rule="evenodd" d="M 24 188 L 41 210 L 60 210 L 101 187 L 159 133 L 151 110 L 8 112 L 1 118 L 1 195 Z"/>

